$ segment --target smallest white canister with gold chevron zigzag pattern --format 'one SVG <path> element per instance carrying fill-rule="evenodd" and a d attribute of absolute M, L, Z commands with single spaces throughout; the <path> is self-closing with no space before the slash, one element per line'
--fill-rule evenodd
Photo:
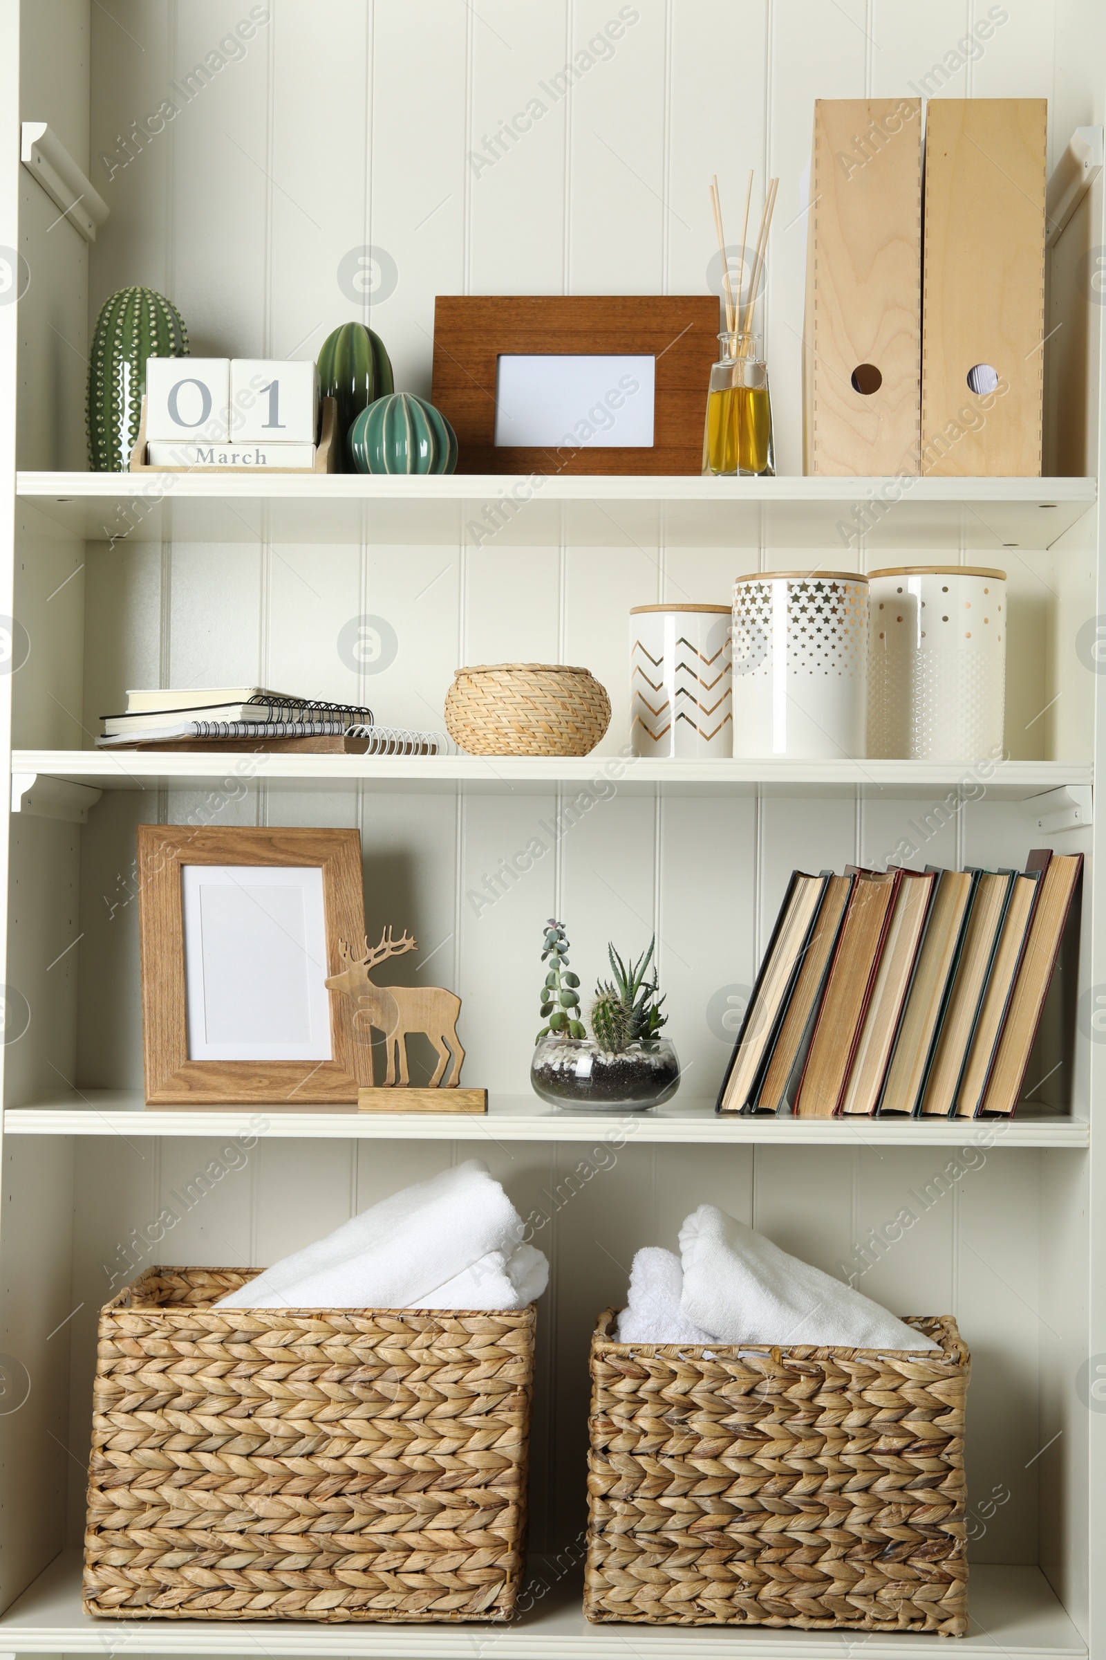
<path fill-rule="evenodd" d="M 633 606 L 630 750 L 665 759 L 733 754 L 730 606 Z"/>

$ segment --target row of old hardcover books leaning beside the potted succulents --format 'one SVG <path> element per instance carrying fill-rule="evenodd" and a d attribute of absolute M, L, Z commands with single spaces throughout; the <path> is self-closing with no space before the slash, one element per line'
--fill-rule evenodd
<path fill-rule="evenodd" d="M 1081 870 L 796 870 L 718 1111 L 1008 1117 Z"/>

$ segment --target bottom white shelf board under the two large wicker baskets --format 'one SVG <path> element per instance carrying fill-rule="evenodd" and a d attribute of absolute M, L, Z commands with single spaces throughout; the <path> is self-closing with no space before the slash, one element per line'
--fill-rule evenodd
<path fill-rule="evenodd" d="M 909 1632 L 798 1632 L 710 1625 L 589 1625 L 580 1610 L 577 1574 L 542 1575 L 531 1559 L 532 1609 L 507 1625 L 322 1625 L 310 1620 L 93 1620 L 81 1612 L 80 1555 L 66 1552 L 38 1575 L 0 1618 L 0 1638 L 17 1653 L 211 1653 L 347 1655 L 380 1660 L 473 1660 L 484 1650 L 497 1660 L 841 1660 L 852 1648 L 864 1660 L 947 1655 L 948 1638 Z M 542 1589 L 549 1585 L 542 1595 Z M 957 1660 L 1084 1660 L 1086 1643 L 1036 1567 L 972 1567 L 972 1625 L 957 1642 Z"/>

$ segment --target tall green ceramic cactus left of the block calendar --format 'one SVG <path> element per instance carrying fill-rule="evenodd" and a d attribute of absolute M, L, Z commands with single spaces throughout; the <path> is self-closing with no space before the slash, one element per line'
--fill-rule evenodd
<path fill-rule="evenodd" d="M 176 305 L 153 289 L 119 289 L 99 307 L 88 364 L 88 466 L 126 473 L 138 442 L 148 357 L 187 357 Z"/>

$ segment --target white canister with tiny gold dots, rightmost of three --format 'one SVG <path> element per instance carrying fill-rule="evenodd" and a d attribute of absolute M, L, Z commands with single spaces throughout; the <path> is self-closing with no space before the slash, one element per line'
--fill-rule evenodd
<path fill-rule="evenodd" d="M 872 571 L 869 755 L 980 760 L 1002 750 L 1007 573 Z"/>

